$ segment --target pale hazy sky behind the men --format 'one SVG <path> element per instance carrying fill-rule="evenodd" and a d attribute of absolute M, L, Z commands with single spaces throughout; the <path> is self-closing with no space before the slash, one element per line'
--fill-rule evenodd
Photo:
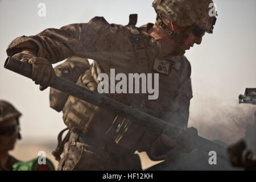
<path fill-rule="evenodd" d="M 40 2 L 46 4 L 46 17 L 38 16 Z M 185 53 L 192 64 L 194 96 L 189 126 L 197 127 L 202 137 L 230 142 L 242 135 L 246 119 L 252 119 L 256 110 L 255 106 L 238 105 L 238 95 L 245 88 L 256 87 L 256 1 L 214 2 L 218 10 L 214 34 L 205 35 L 200 46 Z M 154 23 L 156 15 L 151 3 L 151 0 L 0 1 L 0 98 L 12 102 L 23 113 L 24 140 L 55 139 L 65 125 L 62 114 L 49 107 L 49 89 L 40 92 L 38 85 L 28 78 L 3 68 L 11 40 L 38 34 L 46 28 L 85 23 L 94 16 L 125 25 L 129 14 L 137 13 L 137 26 Z M 216 132 L 210 134 L 212 129 Z"/>

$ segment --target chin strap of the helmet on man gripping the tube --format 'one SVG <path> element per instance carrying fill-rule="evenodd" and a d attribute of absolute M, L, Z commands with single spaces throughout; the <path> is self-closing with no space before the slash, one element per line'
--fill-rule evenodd
<path fill-rule="evenodd" d="M 163 30 L 166 32 L 166 34 L 169 35 L 169 37 L 174 40 L 175 42 L 175 48 L 172 55 L 184 55 L 185 51 L 181 51 L 181 46 L 184 44 L 185 40 L 189 37 L 189 34 L 192 32 L 193 28 L 195 26 L 189 26 L 186 30 L 183 32 L 175 32 L 170 30 L 166 24 L 164 24 L 163 20 L 160 17 L 160 14 L 156 16 L 156 22 L 159 24 L 160 27 L 163 28 Z"/>

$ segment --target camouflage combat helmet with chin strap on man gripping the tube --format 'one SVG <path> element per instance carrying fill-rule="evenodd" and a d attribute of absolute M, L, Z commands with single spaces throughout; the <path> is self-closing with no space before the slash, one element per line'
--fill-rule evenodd
<path fill-rule="evenodd" d="M 191 32 L 198 37 L 205 32 L 213 33 L 217 12 L 212 12 L 212 7 L 215 10 L 212 0 L 155 0 L 152 6 L 157 14 L 156 22 L 176 42 L 174 55 L 185 53 L 180 52 L 180 47 Z M 163 18 L 177 26 L 188 28 L 184 32 L 172 31 L 164 24 Z"/>

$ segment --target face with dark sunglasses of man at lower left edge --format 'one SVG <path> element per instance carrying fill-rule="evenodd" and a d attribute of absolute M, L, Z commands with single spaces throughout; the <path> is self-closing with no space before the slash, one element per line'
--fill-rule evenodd
<path fill-rule="evenodd" d="M 17 124 L 16 118 L 11 118 L 8 119 L 2 123 L 0 123 L 0 128 L 1 127 L 8 127 L 8 126 L 15 126 Z M 16 128 L 16 131 L 11 134 L 10 136 L 8 135 L 0 135 L 0 152 L 5 152 L 9 150 L 13 150 L 14 144 L 18 138 L 18 127 Z"/>

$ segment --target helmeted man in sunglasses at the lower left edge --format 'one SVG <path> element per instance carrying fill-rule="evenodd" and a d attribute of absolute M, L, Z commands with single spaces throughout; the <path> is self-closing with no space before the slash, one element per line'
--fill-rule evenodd
<path fill-rule="evenodd" d="M 13 170 L 18 162 L 8 152 L 14 149 L 16 139 L 20 139 L 19 117 L 22 115 L 7 101 L 0 100 L 0 171 Z"/>

